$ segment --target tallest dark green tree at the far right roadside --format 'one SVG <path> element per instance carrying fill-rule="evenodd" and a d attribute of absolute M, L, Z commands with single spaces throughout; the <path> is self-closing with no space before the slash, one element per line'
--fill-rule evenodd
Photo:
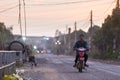
<path fill-rule="evenodd" d="M 103 58 L 116 58 L 120 48 L 120 9 L 113 9 L 102 24 L 102 28 L 94 36 L 94 45 Z"/>

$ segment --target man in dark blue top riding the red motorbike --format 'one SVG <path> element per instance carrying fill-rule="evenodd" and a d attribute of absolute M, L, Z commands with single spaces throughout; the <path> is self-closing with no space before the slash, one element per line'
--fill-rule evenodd
<path fill-rule="evenodd" d="M 79 53 L 78 53 L 78 48 L 81 48 L 81 47 L 83 47 L 83 48 L 85 48 L 86 49 L 86 51 L 88 51 L 89 49 L 88 49 L 88 44 L 87 44 L 87 42 L 84 40 L 84 35 L 83 34 L 80 34 L 80 40 L 78 40 L 76 43 L 75 43 L 75 45 L 74 45 L 74 50 L 76 50 L 76 58 L 75 58 L 75 64 L 73 65 L 73 67 L 76 67 L 76 63 L 77 63 L 77 61 L 78 61 L 78 59 L 79 59 Z M 85 66 L 87 66 L 88 67 L 88 65 L 86 64 L 86 62 L 87 62 L 87 60 L 88 60 L 88 54 L 85 52 L 85 54 L 84 54 L 84 65 Z"/>

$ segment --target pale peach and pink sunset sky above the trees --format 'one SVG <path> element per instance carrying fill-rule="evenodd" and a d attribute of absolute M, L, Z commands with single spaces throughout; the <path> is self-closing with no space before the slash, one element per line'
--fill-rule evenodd
<path fill-rule="evenodd" d="M 55 36 L 58 29 L 67 34 L 66 26 L 74 31 L 74 22 L 77 30 L 87 32 L 90 27 L 90 11 L 93 11 L 94 25 L 101 26 L 108 14 L 115 7 L 116 0 L 25 0 L 26 3 L 26 32 L 27 36 Z M 57 3 L 79 2 L 72 4 L 48 5 Z M 20 34 L 18 23 L 19 0 L 0 0 L 0 22 L 7 27 L 13 27 L 13 34 Z M 25 35 L 24 7 L 21 0 L 22 32 Z M 45 5 L 47 4 L 47 5 Z M 6 10 L 14 7 L 13 9 Z"/>

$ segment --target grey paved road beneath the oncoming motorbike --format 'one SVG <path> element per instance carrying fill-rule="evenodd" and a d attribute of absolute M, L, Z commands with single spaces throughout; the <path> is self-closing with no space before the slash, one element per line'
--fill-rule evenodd
<path fill-rule="evenodd" d="M 27 69 L 33 80 L 120 80 L 120 65 L 88 61 L 89 68 L 79 73 L 73 67 L 74 57 L 39 54 L 37 67 Z"/>

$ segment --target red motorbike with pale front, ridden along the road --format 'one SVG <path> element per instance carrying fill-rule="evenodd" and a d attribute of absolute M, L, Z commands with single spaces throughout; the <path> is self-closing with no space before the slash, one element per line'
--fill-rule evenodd
<path fill-rule="evenodd" d="M 85 54 L 86 49 L 85 48 L 78 48 L 77 50 L 78 50 L 78 53 L 79 53 L 79 58 L 78 58 L 76 67 L 77 67 L 79 72 L 82 72 L 83 69 L 85 69 L 84 54 Z"/>

